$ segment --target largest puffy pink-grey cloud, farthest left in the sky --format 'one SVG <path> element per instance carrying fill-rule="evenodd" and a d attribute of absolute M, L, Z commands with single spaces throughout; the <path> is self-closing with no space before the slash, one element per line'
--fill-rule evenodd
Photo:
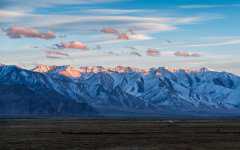
<path fill-rule="evenodd" d="M 37 29 L 29 28 L 29 27 L 20 27 L 20 26 L 14 26 L 8 28 L 6 31 L 6 35 L 9 38 L 40 38 L 40 39 L 53 39 L 55 38 L 55 33 L 53 32 L 40 32 Z"/>

